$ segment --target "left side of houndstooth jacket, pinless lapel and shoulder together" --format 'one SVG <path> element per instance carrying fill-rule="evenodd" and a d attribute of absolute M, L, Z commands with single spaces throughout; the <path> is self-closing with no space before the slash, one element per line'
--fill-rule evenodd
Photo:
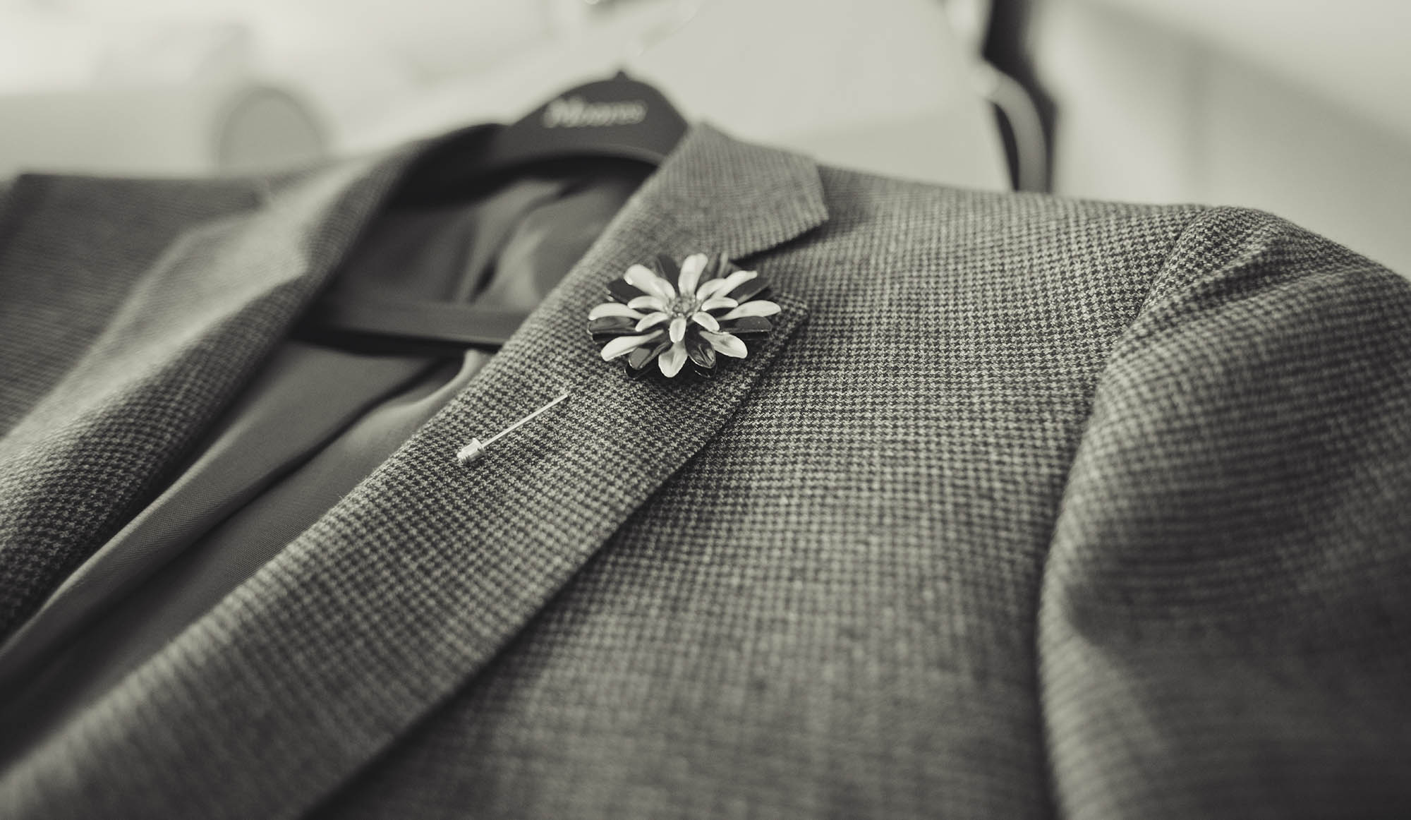
<path fill-rule="evenodd" d="M 0 639 L 151 501 L 395 167 L 281 188 L 20 181 L 0 216 Z"/>

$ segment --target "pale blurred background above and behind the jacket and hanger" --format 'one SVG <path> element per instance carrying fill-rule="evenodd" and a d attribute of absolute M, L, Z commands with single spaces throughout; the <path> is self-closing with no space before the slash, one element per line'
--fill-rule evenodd
<path fill-rule="evenodd" d="M 1405 0 L 0 0 L 0 178 L 378 151 L 618 69 L 866 171 L 1273 210 L 1411 274 Z"/>

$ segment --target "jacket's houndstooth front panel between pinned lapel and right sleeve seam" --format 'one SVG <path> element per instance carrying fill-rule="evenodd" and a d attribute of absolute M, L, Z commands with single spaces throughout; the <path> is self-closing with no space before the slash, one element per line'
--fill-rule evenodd
<path fill-rule="evenodd" d="M 749 401 L 325 817 L 1050 816 L 1043 559 L 1194 212 L 821 178 Z"/>

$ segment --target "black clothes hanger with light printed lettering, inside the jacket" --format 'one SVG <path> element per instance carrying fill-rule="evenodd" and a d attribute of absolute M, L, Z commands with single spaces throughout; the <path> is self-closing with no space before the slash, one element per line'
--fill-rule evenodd
<path fill-rule="evenodd" d="M 454 202 L 531 165 L 601 157 L 656 167 L 687 127 L 659 90 L 618 72 L 562 92 L 511 126 L 471 127 L 443 138 L 408 169 L 391 206 Z M 301 336 L 358 349 L 444 353 L 499 347 L 526 316 L 343 289 L 315 302 Z"/>

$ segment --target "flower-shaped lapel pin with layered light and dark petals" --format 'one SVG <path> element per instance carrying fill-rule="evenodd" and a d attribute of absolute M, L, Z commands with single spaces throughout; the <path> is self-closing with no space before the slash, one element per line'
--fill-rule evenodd
<path fill-rule="evenodd" d="M 634 377 L 653 361 L 670 378 L 687 361 L 710 374 L 720 356 L 745 358 L 745 340 L 768 336 L 766 316 L 779 312 L 766 298 L 769 282 L 724 255 L 691 254 L 680 264 L 659 255 L 650 267 L 629 267 L 608 285 L 608 296 L 588 310 L 588 333 L 602 343 L 604 361 L 622 361 Z"/>

